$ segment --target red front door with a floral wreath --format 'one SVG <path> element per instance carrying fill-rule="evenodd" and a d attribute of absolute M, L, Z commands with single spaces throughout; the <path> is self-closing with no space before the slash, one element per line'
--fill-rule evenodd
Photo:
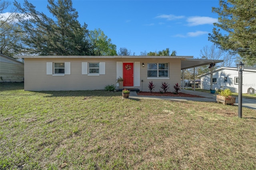
<path fill-rule="evenodd" d="M 133 63 L 123 63 L 124 86 L 133 86 Z"/>

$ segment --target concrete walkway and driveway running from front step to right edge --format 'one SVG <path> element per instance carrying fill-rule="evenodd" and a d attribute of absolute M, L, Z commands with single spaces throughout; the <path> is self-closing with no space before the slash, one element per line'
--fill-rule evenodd
<path fill-rule="evenodd" d="M 166 97 L 166 96 L 138 96 L 135 91 L 130 92 L 130 97 L 133 99 L 154 99 L 154 100 L 169 100 L 169 101 L 201 101 L 201 102 L 216 102 L 216 95 L 218 93 L 205 93 L 200 91 L 192 91 L 192 90 L 181 90 L 182 93 L 188 93 L 191 95 L 198 95 L 200 97 Z M 238 105 L 238 97 L 236 97 L 236 103 L 234 105 Z M 242 98 L 242 107 L 248 107 L 250 109 L 256 109 L 256 99 L 247 99 Z"/>

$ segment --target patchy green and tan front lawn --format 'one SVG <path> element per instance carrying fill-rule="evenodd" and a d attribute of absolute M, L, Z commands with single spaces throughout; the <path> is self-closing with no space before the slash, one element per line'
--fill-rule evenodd
<path fill-rule="evenodd" d="M 0 169 L 256 169 L 256 110 L 0 86 Z"/>

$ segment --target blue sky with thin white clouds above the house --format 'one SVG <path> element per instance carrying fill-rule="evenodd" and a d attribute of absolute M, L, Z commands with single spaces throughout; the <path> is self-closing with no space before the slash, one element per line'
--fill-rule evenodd
<path fill-rule="evenodd" d="M 28 0 L 39 12 L 50 15 L 47 0 Z M 18 0 L 23 3 L 22 0 Z M 208 33 L 218 15 L 212 7 L 218 0 L 73 0 L 81 25 L 100 28 L 117 46 L 135 55 L 169 48 L 177 55 L 200 58 L 200 50 L 211 46 Z"/>

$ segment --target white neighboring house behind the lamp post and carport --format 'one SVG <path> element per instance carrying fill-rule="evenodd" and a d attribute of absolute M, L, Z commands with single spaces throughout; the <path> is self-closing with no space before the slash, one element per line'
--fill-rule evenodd
<path fill-rule="evenodd" d="M 238 71 L 236 67 L 221 67 L 213 71 L 212 88 L 229 88 L 238 93 Z M 247 93 L 248 88 L 256 89 L 256 68 L 244 68 L 242 72 L 242 93 Z M 201 79 L 201 89 L 210 89 L 210 73 L 198 76 Z"/>

